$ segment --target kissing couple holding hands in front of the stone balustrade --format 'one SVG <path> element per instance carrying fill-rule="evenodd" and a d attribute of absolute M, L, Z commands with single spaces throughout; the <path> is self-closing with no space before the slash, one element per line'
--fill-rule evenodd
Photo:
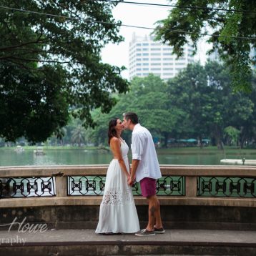
<path fill-rule="evenodd" d="M 124 129 L 132 130 L 132 167 L 129 167 L 129 147 L 122 139 Z M 123 114 L 123 121 L 109 122 L 109 146 L 113 159 L 107 169 L 102 203 L 99 208 L 97 235 L 135 233 L 149 236 L 164 233 L 157 198 L 157 179 L 162 177 L 157 152 L 149 130 L 139 124 L 136 113 Z M 140 230 L 139 218 L 132 195 L 132 184 L 139 182 L 142 196 L 147 198 L 149 217 L 147 227 Z"/>

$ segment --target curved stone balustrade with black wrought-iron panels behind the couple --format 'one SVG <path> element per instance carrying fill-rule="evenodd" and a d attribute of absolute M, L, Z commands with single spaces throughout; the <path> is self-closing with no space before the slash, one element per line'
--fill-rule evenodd
<path fill-rule="evenodd" d="M 0 208 L 99 205 L 107 167 L 107 164 L 0 167 Z M 160 168 L 163 177 L 157 182 L 157 194 L 161 205 L 256 207 L 256 167 L 161 165 Z M 92 181 L 93 177 L 97 180 Z M 51 184 L 44 182 L 47 178 Z M 11 184 L 10 197 L 3 195 L 6 184 Z M 24 187 L 32 191 L 32 196 L 22 195 Z M 51 187 L 52 191 L 46 196 L 36 195 L 38 187 L 41 191 L 49 191 Z M 137 196 L 139 187 L 133 190 L 136 204 L 147 205 L 147 200 Z"/>

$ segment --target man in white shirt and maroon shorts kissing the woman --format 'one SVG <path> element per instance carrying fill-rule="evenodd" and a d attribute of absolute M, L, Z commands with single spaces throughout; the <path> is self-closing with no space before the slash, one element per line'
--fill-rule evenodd
<path fill-rule="evenodd" d="M 142 196 L 147 197 L 149 203 L 149 221 L 144 230 L 135 235 L 148 236 L 164 233 L 160 215 L 160 204 L 157 198 L 157 179 L 162 177 L 157 152 L 154 148 L 152 135 L 139 124 L 137 114 L 124 113 L 124 128 L 132 130 L 132 170 L 128 184 L 132 186 L 134 179 L 140 183 Z"/>

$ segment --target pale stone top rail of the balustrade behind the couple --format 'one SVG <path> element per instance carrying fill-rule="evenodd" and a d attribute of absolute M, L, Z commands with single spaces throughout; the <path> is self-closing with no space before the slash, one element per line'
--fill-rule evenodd
<path fill-rule="evenodd" d="M 105 175 L 109 164 L 7 166 L 0 167 L 0 177 L 51 177 Z M 256 177 L 255 166 L 169 165 L 160 164 L 162 175 Z"/>

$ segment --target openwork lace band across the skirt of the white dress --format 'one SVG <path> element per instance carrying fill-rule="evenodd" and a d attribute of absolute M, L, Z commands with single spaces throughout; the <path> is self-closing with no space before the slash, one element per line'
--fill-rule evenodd
<path fill-rule="evenodd" d="M 104 192 L 102 205 L 126 205 L 133 202 L 131 189 L 119 191 L 109 189 Z"/>

